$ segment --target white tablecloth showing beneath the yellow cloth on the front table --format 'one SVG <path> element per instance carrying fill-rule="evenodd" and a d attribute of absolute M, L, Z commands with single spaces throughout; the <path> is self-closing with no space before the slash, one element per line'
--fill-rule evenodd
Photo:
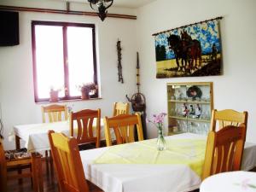
<path fill-rule="evenodd" d="M 166 139 L 198 139 L 205 136 L 184 133 Z M 249 148 L 250 152 L 256 153 L 256 144 L 254 148 Z M 81 159 L 84 166 L 85 177 L 90 182 L 95 183 L 105 192 L 185 192 L 198 189 L 201 178 L 193 172 L 189 166 L 185 165 L 138 165 L 138 164 L 94 164 L 108 148 L 96 148 L 81 151 Z M 256 166 L 256 154 L 254 160 L 250 160 Z M 246 159 L 246 162 L 249 160 Z"/>

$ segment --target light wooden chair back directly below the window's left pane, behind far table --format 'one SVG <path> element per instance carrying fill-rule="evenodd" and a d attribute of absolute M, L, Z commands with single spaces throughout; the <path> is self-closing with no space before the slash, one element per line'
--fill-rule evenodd
<path fill-rule="evenodd" d="M 67 106 L 66 105 L 49 105 L 42 106 L 43 123 L 46 123 L 45 115 L 48 116 L 48 122 L 56 122 L 67 120 Z"/>

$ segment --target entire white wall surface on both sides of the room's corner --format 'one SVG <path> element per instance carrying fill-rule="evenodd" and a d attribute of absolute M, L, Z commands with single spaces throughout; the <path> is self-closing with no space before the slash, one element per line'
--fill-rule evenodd
<path fill-rule="evenodd" d="M 65 9 L 65 3 L 41 3 L 29 0 L 2 0 L 1 4 Z M 77 10 L 90 10 L 84 4 L 71 4 Z M 31 20 L 60 20 L 95 23 L 97 30 L 99 78 L 102 82 L 102 100 L 68 102 L 74 109 L 102 108 L 102 116 L 111 115 L 112 103 L 126 101 L 136 89 L 136 51 L 140 53 L 142 92 L 147 99 L 148 116 L 166 112 L 167 82 L 212 81 L 214 108 L 247 110 L 247 140 L 256 137 L 256 1 L 254 0 L 157 0 L 137 9 L 137 20 L 77 15 L 53 15 L 20 12 L 20 45 L 0 47 L 0 106 L 6 137 L 13 125 L 41 122 L 40 104 L 33 101 Z M 109 13 L 135 15 L 133 9 L 111 8 Z M 154 38 L 152 34 L 201 20 L 224 16 L 221 20 L 224 75 L 200 78 L 155 79 Z M 137 35 L 137 38 L 135 37 Z M 116 41 L 123 47 L 123 75 L 125 84 L 118 83 Z M 166 121 L 167 123 L 167 121 Z M 167 124 L 166 124 L 167 125 Z M 149 137 L 156 130 L 148 125 Z M 14 142 L 5 139 L 5 147 Z"/>

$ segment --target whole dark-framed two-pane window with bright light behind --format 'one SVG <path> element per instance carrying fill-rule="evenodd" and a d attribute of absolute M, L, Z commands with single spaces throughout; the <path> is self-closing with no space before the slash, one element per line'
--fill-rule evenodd
<path fill-rule="evenodd" d="M 32 21 L 35 102 L 79 99 L 79 85 L 97 84 L 95 26 L 67 22 Z"/>

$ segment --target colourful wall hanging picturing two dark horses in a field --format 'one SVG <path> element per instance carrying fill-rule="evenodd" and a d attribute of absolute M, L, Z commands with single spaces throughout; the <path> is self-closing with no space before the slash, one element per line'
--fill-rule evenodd
<path fill-rule="evenodd" d="M 218 20 L 155 35 L 156 78 L 220 75 Z"/>

